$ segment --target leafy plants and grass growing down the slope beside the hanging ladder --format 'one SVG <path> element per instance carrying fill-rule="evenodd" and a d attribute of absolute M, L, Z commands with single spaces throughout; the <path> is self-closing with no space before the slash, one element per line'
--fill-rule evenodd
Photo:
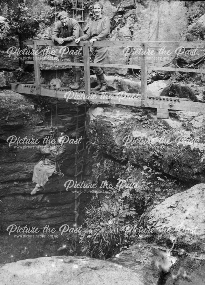
<path fill-rule="evenodd" d="M 152 127 L 156 134 L 167 135 L 163 123 L 156 125 L 146 112 L 142 113 L 138 124 L 146 128 Z M 138 233 L 126 231 L 126 227 L 140 227 L 142 213 L 153 204 L 179 192 L 182 185 L 161 171 L 160 161 L 164 153 L 162 145 L 167 147 L 166 143 L 161 148 L 157 147 L 159 144 L 154 147 L 150 144 L 150 157 L 145 161 L 146 165 L 141 167 L 129 161 L 133 161 L 136 153 L 125 146 L 123 164 L 103 154 L 105 149 L 109 152 L 116 146 L 102 121 L 102 117 L 96 119 L 94 127 L 90 129 L 90 140 L 97 148 L 92 156 L 93 180 L 99 188 L 86 209 L 86 220 L 79 239 L 83 252 L 91 257 L 105 259 L 130 247 L 138 238 Z M 129 127 L 132 127 L 131 123 L 127 122 L 123 128 L 129 132 Z"/>

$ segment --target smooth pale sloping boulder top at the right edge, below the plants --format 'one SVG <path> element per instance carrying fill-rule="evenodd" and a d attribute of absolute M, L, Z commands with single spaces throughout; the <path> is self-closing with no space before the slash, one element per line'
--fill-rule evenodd
<path fill-rule="evenodd" d="M 154 207 L 148 213 L 147 227 L 173 234 L 176 241 L 185 244 L 204 242 L 204 204 L 205 184 L 196 184 Z"/>

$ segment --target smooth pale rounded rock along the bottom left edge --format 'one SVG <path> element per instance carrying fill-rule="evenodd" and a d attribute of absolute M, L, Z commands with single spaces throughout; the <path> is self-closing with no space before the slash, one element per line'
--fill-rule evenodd
<path fill-rule="evenodd" d="M 142 273 L 130 272 L 120 265 L 89 257 L 42 257 L 20 260 L 1 266 L 2 284 L 49 285 L 145 285 Z M 154 283 L 149 283 L 153 284 Z"/>

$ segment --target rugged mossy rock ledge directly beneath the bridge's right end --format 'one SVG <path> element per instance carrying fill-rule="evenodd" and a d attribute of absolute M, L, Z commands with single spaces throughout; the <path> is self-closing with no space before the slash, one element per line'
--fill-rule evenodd
<path fill-rule="evenodd" d="M 149 109 L 93 106 L 86 129 L 93 146 L 117 160 L 143 166 L 156 153 L 165 173 L 204 182 L 204 115 L 182 111 L 170 115 L 157 119 L 156 111 Z"/>

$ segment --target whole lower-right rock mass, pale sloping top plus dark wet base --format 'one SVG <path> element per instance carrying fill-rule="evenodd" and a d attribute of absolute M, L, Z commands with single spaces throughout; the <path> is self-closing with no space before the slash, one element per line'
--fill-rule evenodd
<path fill-rule="evenodd" d="M 142 215 L 143 223 L 125 226 L 136 243 L 109 260 L 146 270 L 154 284 L 204 284 L 204 204 L 205 184 L 165 199 Z"/>

